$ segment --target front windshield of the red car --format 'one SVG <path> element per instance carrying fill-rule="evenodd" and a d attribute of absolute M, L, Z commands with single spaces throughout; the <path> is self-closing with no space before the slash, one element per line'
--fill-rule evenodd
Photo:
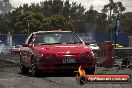
<path fill-rule="evenodd" d="M 81 44 L 79 37 L 71 32 L 47 32 L 36 34 L 35 44 Z"/>

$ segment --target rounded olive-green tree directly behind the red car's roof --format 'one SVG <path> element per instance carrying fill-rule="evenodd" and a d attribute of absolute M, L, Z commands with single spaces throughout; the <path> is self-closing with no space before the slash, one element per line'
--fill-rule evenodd
<path fill-rule="evenodd" d="M 41 30 L 72 30 L 73 25 L 62 15 L 54 15 L 43 19 Z"/>

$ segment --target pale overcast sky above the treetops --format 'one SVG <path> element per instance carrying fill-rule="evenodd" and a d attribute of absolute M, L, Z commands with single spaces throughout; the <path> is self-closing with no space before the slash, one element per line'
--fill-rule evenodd
<path fill-rule="evenodd" d="M 11 4 L 14 7 L 18 7 L 24 3 L 39 3 L 40 1 L 45 0 L 10 0 Z M 65 0 L 64 0 L 65 1 Z M 107 3 L 109 3 L 109 0 L 69 0 L 70 2 L 75 1 L 77 3 L 81 3 L 86 9 L 89 9 L 90 5 L 94 6 L 95 10 L 98 10 L 99 12 L 103 8 L 103 6 Z M 123 3 L 123 5 L 126 7 L 126 11 L 132 12 L 132 0 L 114 0 L 114 2 L 120 1 Z"/>

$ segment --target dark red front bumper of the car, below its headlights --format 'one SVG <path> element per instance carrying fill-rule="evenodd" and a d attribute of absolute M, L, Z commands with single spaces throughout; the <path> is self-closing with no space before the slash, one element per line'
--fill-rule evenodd
<path fill-rule="evenodd" d="M 63 63 L 63 59 L 36 60 L 38 69 L 43 71 L 76 71 L 79 66 L 84 69 L 94 68 L 95 63 L 93 58 L 75 59 L 74 63 Z"/>

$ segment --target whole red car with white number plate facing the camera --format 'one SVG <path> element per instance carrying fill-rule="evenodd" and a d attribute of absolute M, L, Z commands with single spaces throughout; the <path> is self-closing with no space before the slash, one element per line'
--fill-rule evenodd
<path fill-rule="evenodd" d="M 95 59 L 92 49 L 70 31 L 38 31 L 27 38 L 20 49 L 22 73 L 77 71 L 81 66 L 93 74 Z"/>

